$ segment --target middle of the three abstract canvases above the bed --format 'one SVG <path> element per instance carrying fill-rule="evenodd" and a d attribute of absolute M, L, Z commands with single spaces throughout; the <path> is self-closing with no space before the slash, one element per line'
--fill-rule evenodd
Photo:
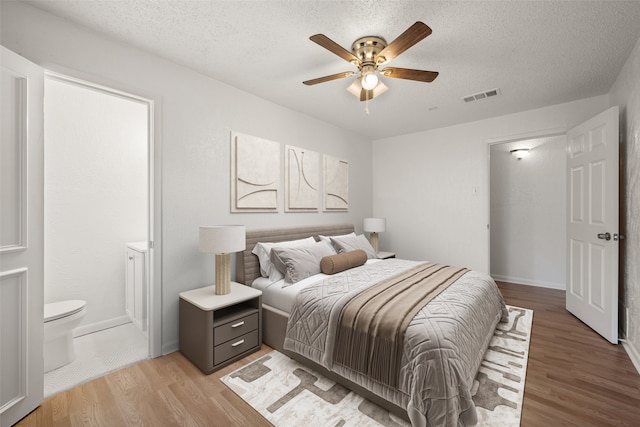
<path fill-rule="evenodd" d="M 285 211 L 314 212 L 319 206 L 320 155 L 285 145 Z"/>

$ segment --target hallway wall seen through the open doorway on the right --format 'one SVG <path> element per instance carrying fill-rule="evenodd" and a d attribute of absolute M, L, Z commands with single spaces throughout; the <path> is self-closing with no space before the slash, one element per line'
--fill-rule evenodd
<path fill-rule="evenodd" d="M 565 289 L 566 137 L 491 146 L 491 276 Z M 521 160 L 509 151 L 529 148 Z"/>

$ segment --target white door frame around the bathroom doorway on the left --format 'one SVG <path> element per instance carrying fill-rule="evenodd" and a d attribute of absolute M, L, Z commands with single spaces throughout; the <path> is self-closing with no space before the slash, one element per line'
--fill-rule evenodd
<path fill-rule="evenodd" d="M 142 103 L 147 107 L 147 236 L 149 281 L 149 346 L 150 357 L 162 356 L 162 156 L 160 143 L 160 98 L 114 82 L 102 82 L 96 76 L 62 69 L 45 68 L 44 76 L 112 96 Z M 46 96 L 46 94 L 45 94 Z"/>

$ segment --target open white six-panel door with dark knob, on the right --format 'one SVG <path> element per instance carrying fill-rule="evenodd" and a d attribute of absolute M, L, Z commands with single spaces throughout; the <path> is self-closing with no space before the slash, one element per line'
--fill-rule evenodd
<path fill-rule="evenodd" d="M 618 107 L 567 133 L 567 310 L 618 343 Z"/>

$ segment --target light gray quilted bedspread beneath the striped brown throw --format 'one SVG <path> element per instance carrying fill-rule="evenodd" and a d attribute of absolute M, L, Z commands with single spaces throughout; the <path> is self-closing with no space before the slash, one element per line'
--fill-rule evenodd
<path fill-rule="evenodd" d="M 486 274 L 465 273 L 413 317 L 402 343 L 397 388 L 333 361 L 344 305 L 363 290 L 419 264 L 370 261 L 331 276 L 305 279 L 296 286 L 295 300 L 286 310 L 284 348 L 406 408 L 414 426 L 475 425 L 473 379 L 496 324 L 508 316 L 502 295 Z"/>

